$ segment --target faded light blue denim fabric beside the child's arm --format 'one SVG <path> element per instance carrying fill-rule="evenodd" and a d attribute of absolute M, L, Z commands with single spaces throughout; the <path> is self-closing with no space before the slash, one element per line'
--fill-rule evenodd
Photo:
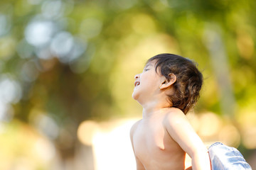
<path fill-rule="evenodd" d="M 215 142 L 208 148 L 212 170 L 252 170 L 242 154 L 234 147 Z"/>

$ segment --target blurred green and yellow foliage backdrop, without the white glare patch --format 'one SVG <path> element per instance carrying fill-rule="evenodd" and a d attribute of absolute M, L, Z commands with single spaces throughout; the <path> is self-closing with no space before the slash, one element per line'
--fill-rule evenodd
<path fill-rule="evenodd" d="M 255 8 L 254 0 L 1 0 L 0 169 L 100 169 L 94 132 L 141 117 L 134 75 L 164 52 L 203 72 L 188 114 L 203 141 L 238 147 L 256 169 Z M 129 140 L 129 128 L 120 134 Z"/>

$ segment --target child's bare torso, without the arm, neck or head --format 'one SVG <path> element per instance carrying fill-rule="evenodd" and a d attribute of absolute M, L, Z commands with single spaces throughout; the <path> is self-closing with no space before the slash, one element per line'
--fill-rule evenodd
<path fill-rule="evenodd" d="M 139 120 L 131 130 L 137 164 L 146 170 L 183 170 L 185 152 L 165 128 L 165 113 Z"/>

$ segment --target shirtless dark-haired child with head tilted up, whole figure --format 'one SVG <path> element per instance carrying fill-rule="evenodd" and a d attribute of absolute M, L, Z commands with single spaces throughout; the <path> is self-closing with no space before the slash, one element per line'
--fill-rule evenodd
<path fill-rule="evenodd" d="M 186 153 L 193 170 L 210 170 L 208 150 L 186 118 L 202 83 L 191 60 L 171 54 L 152 57 L 135 76 L 132 97 L 143 107 L 130 134 L 137 170 L 183 170 Z"/>

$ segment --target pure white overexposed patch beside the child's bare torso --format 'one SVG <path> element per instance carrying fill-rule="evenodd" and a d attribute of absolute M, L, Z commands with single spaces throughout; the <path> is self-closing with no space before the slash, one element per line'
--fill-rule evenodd
<path fill-rule="evenodd" d="M 110 132 L 98 133 L 93 139 L 95 169 L 136 169 L 129 130 L 135 120 L 125 120 Z"/>

